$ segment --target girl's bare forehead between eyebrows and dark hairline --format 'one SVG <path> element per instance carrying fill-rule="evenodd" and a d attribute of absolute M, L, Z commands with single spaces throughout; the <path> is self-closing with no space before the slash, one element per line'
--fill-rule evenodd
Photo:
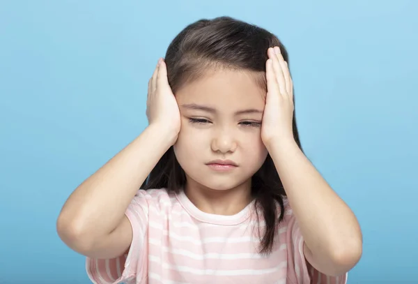
<path fill-rule="evenodd" d="M 211 71 L 180 88 L 176 100 L 179 105 L 195 103 L 218 110 L 249 107 L 263 110 L 265 91 L 257 82 L 257 75 L 242 70 Z"/>

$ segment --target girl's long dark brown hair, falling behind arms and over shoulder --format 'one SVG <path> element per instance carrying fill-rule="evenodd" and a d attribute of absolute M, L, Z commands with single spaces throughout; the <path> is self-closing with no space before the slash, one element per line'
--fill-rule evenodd
<path fill-rule="evenodd" d="M 288 52 L 280 40 L 269 31 L 231 17 L 199 20 L 189 24 L 170 43 L 165 62 L 173 94 L 187 82 L 204 75 L 208 68 L 249 70 L 261 74 L 260 86 L 267 91 L 265 62 L 268 47 L 279 46 L 284 60 Z M 293 102 L 294 103 L 294 102 Z M 293 137 L 302 150 L 293 111 Z M 302 150 L 303 151 L 303 150 Z M 150 172 L 141 186 L 143 189 L 167 188 L 178 193 L 186 183 L 185 172 L 180 167 L 171 147 Z M 284 191 L 279 174 L 270 155 L 251 178 L 251 195 L 262 211 L 265 230 L 261 237 L 260 253 L 272 251 L 277 225 L 284 218 Z M 280 214 L 277 212 L 279 204 Z M 278 217 L 279 216 L 279 217 Z"/>

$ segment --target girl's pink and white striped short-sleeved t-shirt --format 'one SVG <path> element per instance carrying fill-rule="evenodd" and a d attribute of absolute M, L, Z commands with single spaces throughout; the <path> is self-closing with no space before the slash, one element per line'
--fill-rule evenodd
<path fill-rule="evenodd" d="M 300 228 L 285 204 L 272 253 L 261 255 L 257 236 L 265 223 L 263 214 L 257 221 L 254 202 L 219 216 L 200 211 L 183 191 L 139 190 L 126 211 L 130 250 L 109 260 L 87 258 L 88 277 L 96 284 L 346 283 L 347 274 L 326 276 L 307 263 Z"/>

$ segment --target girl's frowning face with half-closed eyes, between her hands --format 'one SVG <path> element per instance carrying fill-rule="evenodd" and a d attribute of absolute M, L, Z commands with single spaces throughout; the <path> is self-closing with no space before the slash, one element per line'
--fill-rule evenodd
<path fill-rule="evenodd" d="M 176 100 L 181 129 L 174 151 L 187 183 L 249 187 L 268 154 L 261 140 L 265 92 L 254 75 L 217 70 L 178 90 Z"/>

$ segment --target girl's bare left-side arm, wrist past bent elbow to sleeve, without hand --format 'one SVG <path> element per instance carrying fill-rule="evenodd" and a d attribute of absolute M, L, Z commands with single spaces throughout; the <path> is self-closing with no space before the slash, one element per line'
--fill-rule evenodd
<path fill-rule="evenodd" d="M 132 227 L 125 211 L 171 146 L 170 138 L 157 126 L 148 126 L 75 189 L 57 221 L 57 231 L 65 244 L 95 258 L 112 258 L 127 251 Z"/>

